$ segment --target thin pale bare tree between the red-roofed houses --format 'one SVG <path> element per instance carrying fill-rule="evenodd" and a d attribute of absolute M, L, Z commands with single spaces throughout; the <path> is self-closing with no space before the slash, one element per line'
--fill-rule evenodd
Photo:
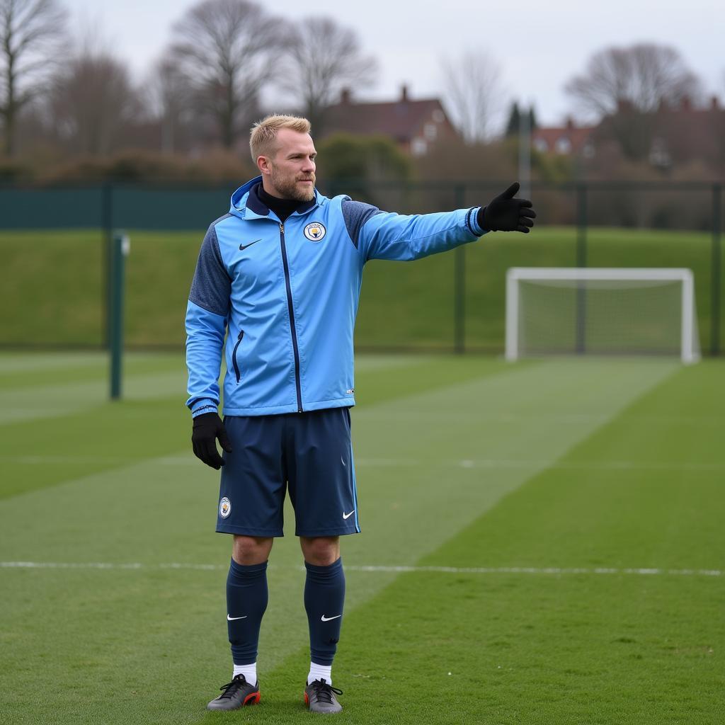
<path fill-rule="evenodd" d="M 508 100 L 499 65 L 486 51 L 467 50 L 455 59 L 442 58 L 441 68 L 444 100 L 466 143 L 487 141 Z"/>

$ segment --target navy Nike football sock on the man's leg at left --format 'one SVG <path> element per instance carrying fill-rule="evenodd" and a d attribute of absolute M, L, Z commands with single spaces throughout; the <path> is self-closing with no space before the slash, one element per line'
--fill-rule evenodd
<path fill-rule="evenodd" d="M 267 600 L 267 562 L 243 566 L 232 559 L 227 576 L 227 626 L 235 665 L 257 661 Z"/>

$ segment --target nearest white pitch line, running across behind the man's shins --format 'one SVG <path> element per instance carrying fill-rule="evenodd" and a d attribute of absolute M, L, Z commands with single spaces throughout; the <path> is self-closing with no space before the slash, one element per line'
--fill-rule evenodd
<path fill-rule="evenodd" d="M 191 569 L 195 571 L 226 571 L 226 564 L 142 564 L 112 562 L 53 562 L 53 561 L 0 561 L 4 569 L 131 569 L 157 571 L 159 569 Z M 295 568 L 302 566 L 270 568 Z M 665 569 L 665 568 L 613 568 L 613 567 L 535 567 L 535 566 L 345 566 L 345 571 L 385 573 L 446 573 L 446 574 L 539 574 L 564 576 L 568 574 L 635 574 L 638 576 L 724 576 L 720 569 Z"/>

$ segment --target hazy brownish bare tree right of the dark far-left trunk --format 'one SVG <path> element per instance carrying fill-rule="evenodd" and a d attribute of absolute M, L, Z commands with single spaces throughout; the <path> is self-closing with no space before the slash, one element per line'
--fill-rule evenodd
<path fill-rule="evenodd" d="M 142 104 L 122 62 L 82 51 L 54 78 L 49 110 L 59 141 L 72 152 L 96 156 L 123 145 L 141 119 Z"/>

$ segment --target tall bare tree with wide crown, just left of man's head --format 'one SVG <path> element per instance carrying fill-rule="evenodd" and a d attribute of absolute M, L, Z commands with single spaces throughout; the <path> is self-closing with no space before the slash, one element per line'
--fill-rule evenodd
<path fill-rule="evenodd" d="M 202 0 L 173 34 L 170 58 L 197 109 L 213 117 L 222 144 L 233 146 L 245 112 L 256 111 L 260 89 L 278 70 L 286 25 L 247 0 Z"/>

